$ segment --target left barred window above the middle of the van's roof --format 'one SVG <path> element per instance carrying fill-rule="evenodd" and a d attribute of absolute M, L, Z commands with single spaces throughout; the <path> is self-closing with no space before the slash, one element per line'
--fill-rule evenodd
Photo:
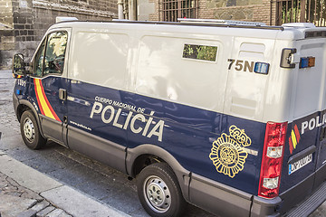
<path fill-rule="evenodd" d="M 163 21 L 177 22 L 177 18 L 198 18 L 198 0 L 162 0 Z"/>

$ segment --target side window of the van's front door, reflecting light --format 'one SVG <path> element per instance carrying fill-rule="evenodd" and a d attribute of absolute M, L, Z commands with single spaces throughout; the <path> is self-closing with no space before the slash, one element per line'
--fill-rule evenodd
<path fill-rule="evenodd" d="M 66 32 L 51 33 L 48 36 L 43 76 L 53 73 L 62 74 L 67 39 L 68 34 Z"/>

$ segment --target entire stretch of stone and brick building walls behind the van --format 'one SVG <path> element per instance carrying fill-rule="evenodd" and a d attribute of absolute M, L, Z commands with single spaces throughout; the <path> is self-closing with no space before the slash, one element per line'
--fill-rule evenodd
<path fill-rule="evenodd" d="M 280 25 L 326 24 L 325 1 L 318 0 L 0 0 L 0 69 L 11 65 L 15 52 L 31 58 L 57 16 L 108 21 L 177 22 L 177 18 L 220 19 Z"/>

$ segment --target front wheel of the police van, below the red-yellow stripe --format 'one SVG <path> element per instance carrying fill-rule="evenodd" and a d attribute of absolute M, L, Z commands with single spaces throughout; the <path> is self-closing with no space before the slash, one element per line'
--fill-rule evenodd
<path fill-rule="evenodd" d="M 24 144 L 31 149 L 40 149 L 46 144 L 42 137 L 34 114 L 31 110 L 25 110 L 20 121 L 21 134 Z"/>

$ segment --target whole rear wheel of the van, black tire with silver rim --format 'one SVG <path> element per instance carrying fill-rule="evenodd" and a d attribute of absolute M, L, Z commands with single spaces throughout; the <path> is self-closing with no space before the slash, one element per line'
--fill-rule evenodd
<path fill-rule="evenodd" d="M 139 201 L 153 217 L 181 216 L 185 201 L 177 176 L 166 163 L 145 167 L 137 176 Z"/>

